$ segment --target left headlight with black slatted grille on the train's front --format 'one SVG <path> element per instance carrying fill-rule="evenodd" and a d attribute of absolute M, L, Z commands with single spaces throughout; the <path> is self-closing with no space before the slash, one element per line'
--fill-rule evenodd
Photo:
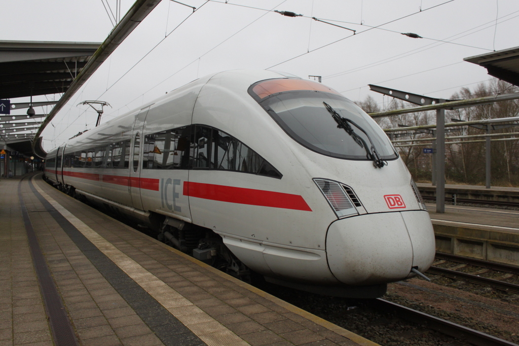
<path fill-rule="evenodd" d="M 321 178 L 315 178 L 313 181 L 330 203 L 337 217 L 359 214 L 355 206 L 362 206 L 362 204 L 350 187 Z"/>

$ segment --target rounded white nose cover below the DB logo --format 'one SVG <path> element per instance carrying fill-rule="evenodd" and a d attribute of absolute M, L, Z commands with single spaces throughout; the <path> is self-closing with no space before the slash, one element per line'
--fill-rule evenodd
<path fill-rule="evenodd" d="M 326 256 L 333 275 L 348 285 L 403 280 L 434 260 L 434 231 L 427 212 L 364 214 L 333 222 Z"/>

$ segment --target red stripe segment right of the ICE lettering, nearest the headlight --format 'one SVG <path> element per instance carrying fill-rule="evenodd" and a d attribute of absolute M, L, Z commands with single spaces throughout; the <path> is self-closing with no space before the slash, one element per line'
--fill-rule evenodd
<path fill-rule="evenodd" d="M 185 196 L 213 201 L 312 211 L 302 196 L 290 193 L 192 182 L 184 182 L 183 193 Z"/>

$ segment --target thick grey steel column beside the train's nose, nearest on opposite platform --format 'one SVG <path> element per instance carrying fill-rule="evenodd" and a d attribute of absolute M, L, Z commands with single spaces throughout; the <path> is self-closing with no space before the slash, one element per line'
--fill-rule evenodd
<path fill-rule="evenodd" d="M 445 213 L 445 109 L 436 110 L 436 213 Z"/>

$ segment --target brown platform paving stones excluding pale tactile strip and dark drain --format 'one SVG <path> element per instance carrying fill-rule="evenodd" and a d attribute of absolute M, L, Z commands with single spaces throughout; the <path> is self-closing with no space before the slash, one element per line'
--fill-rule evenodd
<path fill-rule="evenodd" d="M 79 344 L 204 344 L 95 246 L 53 217 L 29 179 L 21 182 L 23 200 Z M 242 344 L 358 344 L 350 339 L 351 333 L 316 316 L 303 316 L 297 308 L 64 195 L 39 176 L 33 182 L 118 251 L 182 294 L 199 309 L 193 319 L 224 326 Z M 0 346 L 52 345 L 17 197 L 19 183 L 17 178 L 0 181 Z"/>

